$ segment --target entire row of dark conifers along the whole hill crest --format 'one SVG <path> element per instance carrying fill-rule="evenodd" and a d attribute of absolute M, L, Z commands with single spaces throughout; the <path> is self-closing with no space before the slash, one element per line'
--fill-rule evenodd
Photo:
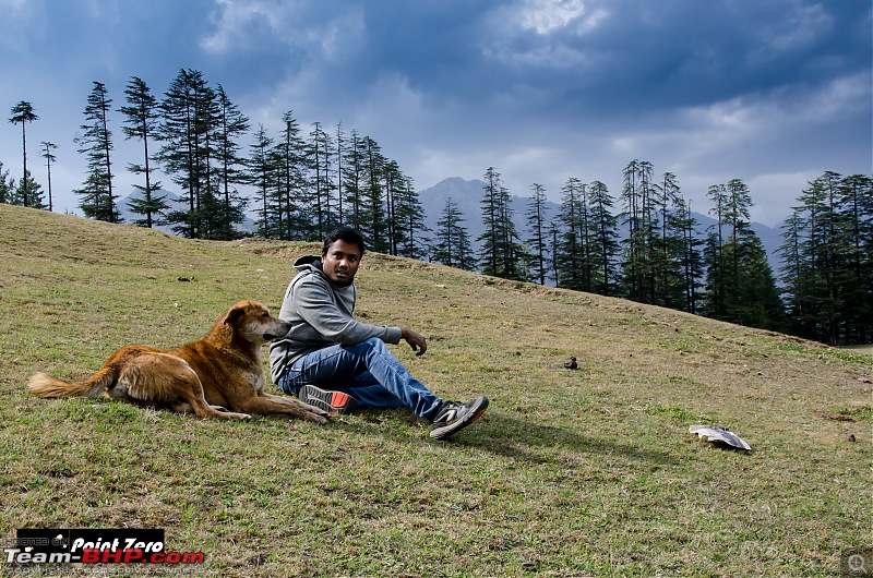
<path fill-rule="evenodd" d="M 380 145 L 342 123 L 308 132 L 291 110 L 276 134 L 251 121 L 195 70 L 182 69 L 162 98 L 130 79 L 124 104 L 112 108 L 94 82 L 85 121 L 74 139 L 87 173 L 74 192 L 88 218 L 118 222 L 111 118 L 140 143 L 137 197 L 129 209 L 143 227 L 167 225 L 184 237 L 229 240 L 251 233 L 239 225 L 256 215 L 253 234 L 316 241 L 336 225 L 359 229 L 372 250 L 424 258 L 486 275 L 622 297 L 742 325 L 792 333 L 833 345 L 868 342 L 873 332 L 873 178 L 828 171 L 798 197 L 782 228 L 777 286 L 761 239 L 752 231 L 749 186 L 741 179 L 711 185 L 716 224 L 698 234 L 691 202 L 675 174 L 656 177 L 645 160 L 622 171 L 618 197 L 601 181 L 570 178 L 555 215 L 541 184 L 531 184 L 524 231 L 516 230 L 510 192 L 489 167 L 480 201 L 485 232 L 474 249 L 466 216 L 451 198 L 435 230 L 412 180 Z M 38 120 L 21 101 L 10 122 L 21 124 L 23 173 L 15 181 L 0 162 L 0 202 L 52 208 L 51 142 L 40 143 L 45 192 L 27 168 L 26 125 Z M 250 137 L 246 147 L 243 141 Z M 160 194 L 160 173 L 181 191 L 183 207 Z"/>

